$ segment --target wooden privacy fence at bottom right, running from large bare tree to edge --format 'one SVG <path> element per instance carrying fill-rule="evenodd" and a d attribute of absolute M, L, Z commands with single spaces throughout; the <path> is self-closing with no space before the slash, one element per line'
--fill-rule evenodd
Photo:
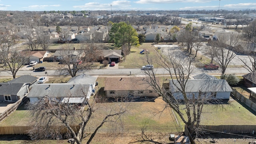
<path fill-rule="evenodd" d="M 219 125 L 219 126 L 204 126 L 201 125 L 200 128 L 209 133 L 216 132 L 227 132 L 227 133 L 252 133 L 254 130 L 256 132 L 256 125 Z"/>

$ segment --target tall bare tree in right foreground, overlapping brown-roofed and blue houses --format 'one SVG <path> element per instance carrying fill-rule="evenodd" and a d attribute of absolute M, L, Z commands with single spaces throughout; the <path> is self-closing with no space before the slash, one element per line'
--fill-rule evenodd
<path fill-rule="evenodd" d="M 162 56 L 164 54 L 164 56 Z M 152 86 L 159 94 L 159 96 L 162 96 L 164 101 L 166 102 L 166 107 L 172 108 L 178 116 L 181 118 L 182 122 L 186 125 L 188 128 L 188 131 L 190 132 L 190 142 L 193 143 L 193 135 L 198 136 L 198 132 L 200 131 L 198 129 L 200 121 L 201 121 L 201 114 L 204 104 L 211 100 L 210 98 L 207 98 L 199 91 L 199 94 L 197 98 L 193 94 L 193 96 L 189 96 L 186 92 L 189 76 L 193 71 L 193 68 L 191 66 L 192 58 L 186 55 L 186 52 L 184 52 L 184 57 L 175 56 L 176 54 L 168 51 L 168 54 L 162 53 L 160 54 L 160 60 L 158 64 L 160 64 L 165 70 L 168 71 L 168 75 L 171 77 L 170 83 L 177 89 L 178 92 L 182 93 L 182 97 L 184 98 L 182 102 L 176 99 L 176 97 L 173 95 L 171 88 L 169 86 L 162 87 L 156 82 L 156 73 L 154 70 L 148 70 L 145 71 L 145 73 L 150 78 L 145 79 L 148 80 L 148 83 L 150 86 Z M 147 59 L 148 64 L 152 62 L 150 58 Z M 184 114 L 183 111 L 186 111 Z"/>

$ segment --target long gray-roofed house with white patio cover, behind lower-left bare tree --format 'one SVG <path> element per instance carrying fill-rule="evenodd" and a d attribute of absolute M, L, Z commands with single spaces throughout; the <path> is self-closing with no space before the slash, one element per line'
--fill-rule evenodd
<path fill-rule="evenodd" d="M 85 95 L 84 95 L 84 93 Z M 60 102 L 70 103 L 72 100 L 79 104 L 86 104 L 85 99 L 90 99 L 92 95 L 92 85 L 91 84 L 36 84 L 30 90 L 28 98 L 30 102 L 34 103 L 45 96 L 52 97 Z"/>

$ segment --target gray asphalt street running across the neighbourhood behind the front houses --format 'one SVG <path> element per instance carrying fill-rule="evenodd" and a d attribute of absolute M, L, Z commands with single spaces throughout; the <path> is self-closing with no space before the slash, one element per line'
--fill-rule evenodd
<path fill-rule="evenodd" d="M 45 74 L 47 72 L 47 74 Z M 168 71 L 164 68 L 154 68 L 154 72 L 158 75 L 166 75 L 168 74 Z M 85 71 L 79 71 L 77 75 L 79 74 L 90 74 L 90 75 L 111 75 L 111 76 L 118 76 L 118 75 L 143 75 L 144 70 L 140 69 L 131 69 L 131 68 L 119 68 L 119 69 L 93 69 L 89 70 L 87 72 Z M 192 74 L 201 74 L 201 73 L 207 73 L 212 75 L 220 75 L 220 70 L 204 70 L 203 68 L 195 68 Z M 227 68 L 226 74 L 247 74 L 249 73 L 248 70 L 245 68 Z M 16 74 L 16 76 L 22 76 L 22 75 L 31 75 L 31 76 L 69 76 L 68 72 L 62 72 L 60 73 L 58 70 L 46 70 L 44 72 L 35 72 L 34 70 L 19 70 Z M 12 74 L 8 72 L 1 71 L 0 77 L 12 77 Z"/>

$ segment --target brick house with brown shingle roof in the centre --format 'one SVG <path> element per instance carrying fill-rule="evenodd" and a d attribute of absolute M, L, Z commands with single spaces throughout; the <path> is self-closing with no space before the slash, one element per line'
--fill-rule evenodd
<path fill-rule="evenodd" d="M 141 77 L 107 77 L 104 91 L 108 98 L 158 97 L 153 87 L 148 84 L 147 78 Z"/>

